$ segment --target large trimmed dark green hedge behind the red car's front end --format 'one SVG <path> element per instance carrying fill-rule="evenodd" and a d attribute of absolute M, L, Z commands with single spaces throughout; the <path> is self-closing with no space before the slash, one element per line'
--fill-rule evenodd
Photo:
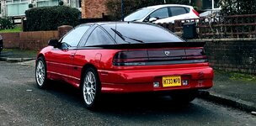
<path fill-rule="evenodd" d="M 61 25 L 79 24 L 79 10 L 67 6 L 31 8 L 25 12 L 27 31 L 56 30 Z"/>

